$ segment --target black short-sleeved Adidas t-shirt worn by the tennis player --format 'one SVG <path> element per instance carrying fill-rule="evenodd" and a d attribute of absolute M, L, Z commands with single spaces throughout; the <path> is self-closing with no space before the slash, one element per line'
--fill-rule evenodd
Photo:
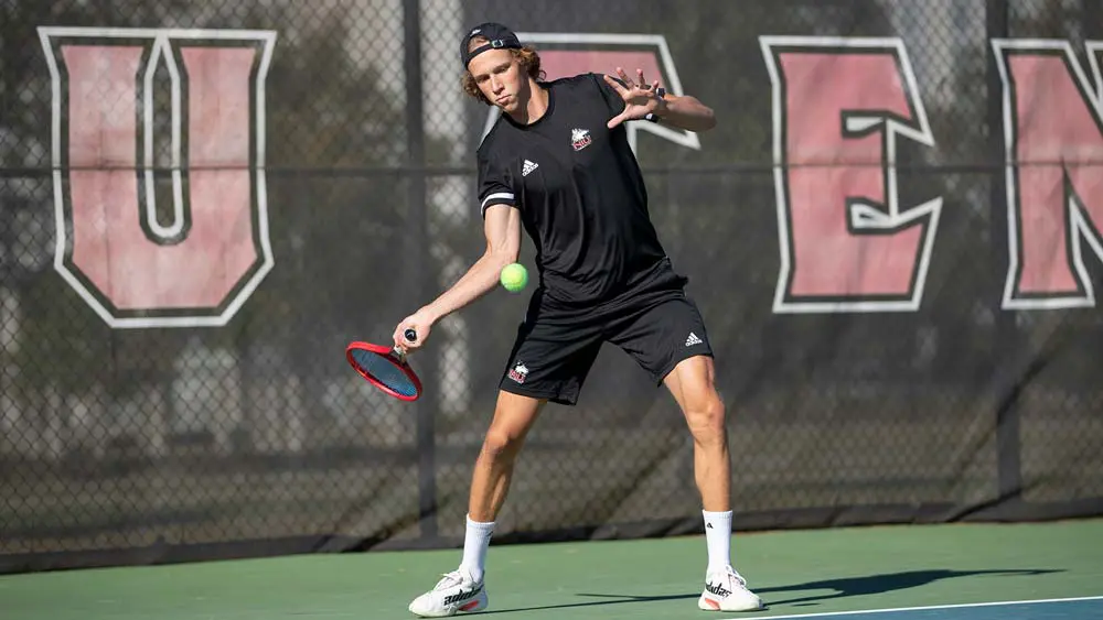
<path fill-rule="evenodd" d="M 521 210 L 542 293 L 561 305 L 585 307 L 655 284 L 670 261 L 647 213 L 643 175 L 624 123 L 606 126 L 623 99 L 592 73 L 542 86 L 543 117 L 522 126 L 503 113 L 479 146 L 483 216 L 492 205 Z"/>

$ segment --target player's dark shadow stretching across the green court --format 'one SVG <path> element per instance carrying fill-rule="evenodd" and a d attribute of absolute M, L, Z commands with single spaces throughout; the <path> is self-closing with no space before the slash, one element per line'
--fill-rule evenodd
<path fill-rule="evenodd" d="M 994 576 L 1028 576 L 1028 575 L 1048 575 L 1050 573 L 1063 573 L 1062 569 L 1005 569 L 1005 570 L 909 570 L 904 573 L 889 573 L 885 575 L 868 575 L 865 577 L 846 577 L 840 579 L 824 579 L 821 581 L 807 581 L 804 584 L 793 584 L 791 586 L 778 586 L 778 587 L 765 587 L 765 588 L 754 588 L 752 589 L 756 594 L 762 597 L 762 601 L 770 606 L 778 605 L 817 605 L 820 601 L 834 600 L 846 597 L 854 596 L 866 596 L 866 595 L 877 595 L 884 592 L 891 592 L 897 590 L 906 590 L 909 588 L 918 588 L 933 584 L 935 581 L 941 581 L 944 579 L 956 579 L 960 577 L 975 577 L 981 575 L 994 575 Z M 803 592 L 810 590 L 834 590 L 833 592 L 797 597 L 797 598 L 782 598 L 782 600 L 777 599 L 777 595 L 784 595 L 789 592 Z M 666 595 L 666 596 L 633 596 L 633 595 L 617 595 L 617 594 L 587 594 L 579 592 L 580 597 L 589 598 L 600 598 L 606 600 L 593 600 L 587 602 L 569 602 L 565 605 L 548 605 L 548 606 L 535 606 L 535 607 L 518 607 L 513 609 L 495 609 L 490 611 L 480 612 L 480 616 L 486 613 L 505 613 L 508 611 L 536 611 L 542 609 L 571 609 L 580 607 L 598 607 L 606 605 L 624 605 L 631 602 L 653 602 L 661 600 L 681 600 L 681 599 L 695 599 L 700 596 L 700 590 L 688 592 L 684 595 Z"/>

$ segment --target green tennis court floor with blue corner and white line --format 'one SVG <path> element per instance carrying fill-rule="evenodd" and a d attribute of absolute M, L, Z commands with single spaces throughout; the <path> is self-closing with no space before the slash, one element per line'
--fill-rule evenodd
<path fill-rule="evenodd" d="M 765 611 L 697 610 L 705 542 L 690 536 L 492 546 L 491 607 L 470 617 L 1103 619 L 1103 520 L 737 533 L 733 554 Z M 11 575 L 0 618 L 411 618 L 409 600 L 458 561 L 447 550 Z"/>

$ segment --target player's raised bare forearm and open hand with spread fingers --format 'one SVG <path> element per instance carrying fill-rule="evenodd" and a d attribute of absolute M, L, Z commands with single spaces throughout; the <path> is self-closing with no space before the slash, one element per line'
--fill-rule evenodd
<path fill-rule="evenodd" d="M 649 84 L 643 69 L 636 69 L 636 81 L 617 67 L 620 79 L 606 75 L 604 80 L 624 102 L 624 109 L 609 120 L 609 128 L 629 120 L 646 119 L 687 131 L 708 131 L 716 127 L 716 112 L 690 95 L 672 95 L 658 87 L 658 80 Z"/>

